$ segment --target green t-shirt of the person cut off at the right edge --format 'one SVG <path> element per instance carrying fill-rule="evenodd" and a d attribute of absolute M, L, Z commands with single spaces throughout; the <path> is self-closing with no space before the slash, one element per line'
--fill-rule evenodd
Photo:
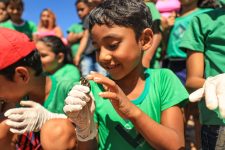
<path fill-rule="evenodd" d="M 225 73 L 225 9 L 216 9 L 193 18 L 180 48 L 204 53 L 205 78 Z M 206 125 L 225 125 L 216 112 L 199 103 L 200 120 Z"/>

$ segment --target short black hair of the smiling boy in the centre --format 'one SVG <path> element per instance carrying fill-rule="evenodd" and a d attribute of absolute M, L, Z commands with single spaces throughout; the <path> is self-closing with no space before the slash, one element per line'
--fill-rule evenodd
<path fill-rule="evenodd" d="M 152 16 L 143 0 L 105 0 L 90 13 L 90 30 L 95 24 L 130 27 L 138 39 L 151 28 Z"/>

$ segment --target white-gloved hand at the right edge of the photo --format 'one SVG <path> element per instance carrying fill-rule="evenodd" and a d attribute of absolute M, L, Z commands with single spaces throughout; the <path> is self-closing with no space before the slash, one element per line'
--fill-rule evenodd
<path fill-rule="evenodd" d="M 207 78 L 202 88 L 190 94 L 189 100 L 197 102 L 203 97 L 208 109 L 219 107 L 220 115 L 225 118 L 225 73 Z"/>

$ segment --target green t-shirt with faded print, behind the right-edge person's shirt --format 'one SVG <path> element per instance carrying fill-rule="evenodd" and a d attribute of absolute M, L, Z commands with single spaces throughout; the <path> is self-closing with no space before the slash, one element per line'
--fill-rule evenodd
<path fill-rule="evenodd" d="M 169 41 L 167 45 L 166 55 L 168 58 L 186 58 L 187 55 L 179 48 L 184 32 L 186 31 L 192 18 L 200 13 L 209 11 L 211 9 L 197 9 L 194 12 L 177 17 L 174 26 L 170 32 Z"/>

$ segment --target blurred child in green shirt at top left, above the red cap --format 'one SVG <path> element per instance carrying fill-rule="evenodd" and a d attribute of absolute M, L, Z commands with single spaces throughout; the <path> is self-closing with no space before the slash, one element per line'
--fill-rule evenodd
<path fill-rule="evenodd" d="M 37 31 L 35 23 L 22 18 L 24 3 L 22 0 L 9 0 L 7 13 L 9 20 L 0 23 L 0 27 L 10 28 L 25 33 L 30 39 L 34 39 L 34 33 Z"/>

